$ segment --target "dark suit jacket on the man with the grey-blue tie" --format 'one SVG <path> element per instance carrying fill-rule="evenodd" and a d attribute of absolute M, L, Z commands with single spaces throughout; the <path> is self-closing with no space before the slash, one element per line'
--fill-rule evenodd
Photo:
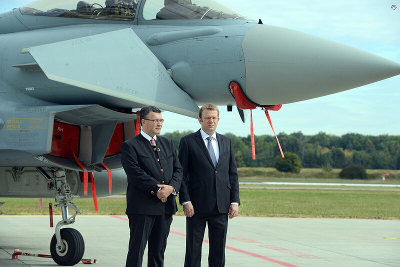
<path fill-rule="evenodd" d="M 216 133 L 219 159 L 214 168 L 200 130 L 183 136 L 179 161 L 183 167 L 179 202 L 191 201 L 194 213 L 211 212 L 217 203 L 220 213 L 227 213 L 231 202 L 239 200 L 239 181 L 230 138 Z"/>

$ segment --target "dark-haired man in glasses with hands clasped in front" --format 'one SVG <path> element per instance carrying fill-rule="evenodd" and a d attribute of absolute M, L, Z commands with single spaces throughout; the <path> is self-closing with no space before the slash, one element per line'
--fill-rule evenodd
<path fill-rule="evenodd" d="M 140 134 L 121 145 L 121 163 L 128 180 L 125 213 L 130 238 L 126 267 L 141 266 L 147 241 L 147 266 L 163 266 L 182 167 L 172 141 L 157 136 L 164 122 L 161 110 L 143 106 L 137 119 Z"/>

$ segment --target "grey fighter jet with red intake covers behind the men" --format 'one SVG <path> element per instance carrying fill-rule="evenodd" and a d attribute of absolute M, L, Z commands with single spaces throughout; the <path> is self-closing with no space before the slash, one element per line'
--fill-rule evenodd
<path fill-rule="evenodd" d="M 197 117 L 213 102 L 244 121 L 254 107 L 400 74 L 396 62 L 215 0 L 36 0 L 0 14 L 0 59 L 0 196 L 54 196 L 62 220 L 50 252 L 61 265 L 84 252 L 80 233 L 61 228 L 80 213 L 73 198 L 90 196 L 88 183 L 97 196 L 125 190 L 119 147 L 134 110 Z"/>

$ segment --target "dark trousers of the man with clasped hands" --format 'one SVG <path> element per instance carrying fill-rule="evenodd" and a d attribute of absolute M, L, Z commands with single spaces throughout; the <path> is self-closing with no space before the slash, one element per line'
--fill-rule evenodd
<path fill-rule="evenodd" d="M 147 266 L 162 267 L 172 215 L 127 214 L 127 216 L 130 238 L 125 266 L 141 267 L 144 249 L 148 241 Z"/>

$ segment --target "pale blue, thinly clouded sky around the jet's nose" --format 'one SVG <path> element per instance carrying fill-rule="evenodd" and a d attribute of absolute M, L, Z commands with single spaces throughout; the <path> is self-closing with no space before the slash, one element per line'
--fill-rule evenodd
<path fill-rule="evenodd" d="M 400 0 L 219 0 L 251 18 L 348 44 L 400 63 Z M 29 0 L 0 0 L 0 12 Z M 10 4 L 11 3 L 11 4 Z M 397 8 L 396 8 L 397 7 Z M 293 49 L 295 49 L 293 43 Z M 219 107 L 217 131 L 249 134 L 236 108 Z M 400 134 L 400 75 L 352 90 L 284 104 L 270 111 L 276 132 L 342 135 Z M 196 130 L 196 119 L 163 112 L 163 132 Z M 254 134 L 272 134 L 265 114 L 253 110 Z"/>

